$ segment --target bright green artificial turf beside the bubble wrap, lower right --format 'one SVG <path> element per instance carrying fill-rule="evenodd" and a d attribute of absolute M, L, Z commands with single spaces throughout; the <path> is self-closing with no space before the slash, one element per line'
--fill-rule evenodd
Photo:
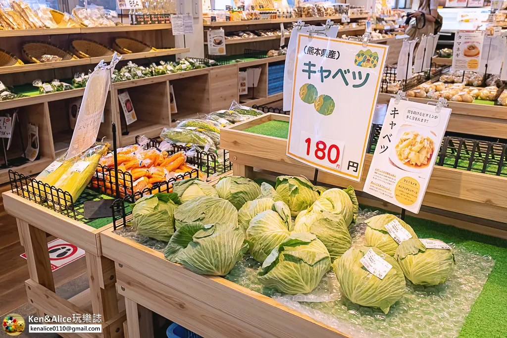
<path fill-rule="evenodd" d="M 379 210 L 361 205 L 361 209 Z M 495 260 L 493 271 L 472 306 L 459 333 L 460 338 L 493 338 L 507 336 L 507 241 L 447 226 L 426 219 L 407 216 L 405 221 L 420 238 L 438 238 L 466 248 L 470 252 L 489 255 Z"/>

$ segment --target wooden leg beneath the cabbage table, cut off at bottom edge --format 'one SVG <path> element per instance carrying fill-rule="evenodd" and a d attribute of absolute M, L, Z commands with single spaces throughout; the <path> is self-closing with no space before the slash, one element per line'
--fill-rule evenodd
<path fill-rule="evenodd" d="M 131 299 L 125 298 L 129 338 L 153 338 L 153 313 Z"/>

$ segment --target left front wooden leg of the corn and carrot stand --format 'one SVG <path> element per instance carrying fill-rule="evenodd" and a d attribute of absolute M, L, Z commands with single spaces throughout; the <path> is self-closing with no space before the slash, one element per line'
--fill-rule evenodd
<path fill-rule="evenodd" d="M 17 222 L 25 246 L 30 279 L 55 292 L 46 232 L 30 226 L 24 220 L 18 219 Z M 40 310 L 37 310 L 37 315 L 44 317 L 44 313 Z"/>

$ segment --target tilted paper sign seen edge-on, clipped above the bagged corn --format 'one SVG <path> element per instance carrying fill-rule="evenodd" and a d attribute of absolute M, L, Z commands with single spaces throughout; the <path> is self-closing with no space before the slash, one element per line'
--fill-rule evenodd
<path fill-rule="evenodd" d="M 115 53 L 110 66 L 101 61 L 90 74 L 68 148 L 67 159 L 83 153 L 97 140 L 111 84 L 111 74 L 120 59 L 121 56 Z"/>

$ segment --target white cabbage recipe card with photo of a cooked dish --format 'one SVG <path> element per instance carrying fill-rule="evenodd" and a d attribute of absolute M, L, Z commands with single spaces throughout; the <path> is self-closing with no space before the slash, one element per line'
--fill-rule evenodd
<path fill-rule="evenodd" d="M 391 99 L 363 191 L 418 213 L 450 108 Z"/>

